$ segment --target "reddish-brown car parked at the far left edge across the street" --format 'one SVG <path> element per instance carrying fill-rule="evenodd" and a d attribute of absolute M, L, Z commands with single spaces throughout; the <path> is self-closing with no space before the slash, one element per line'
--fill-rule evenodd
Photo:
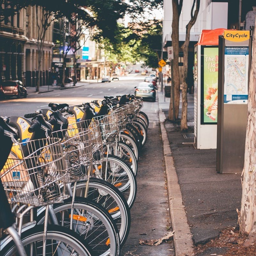
<path fill-rule="evenodd" d="M 16 96 L 27 98 L 27 89 L 20 80 L 4 81 L 0 84 L 0 96 Z"/>

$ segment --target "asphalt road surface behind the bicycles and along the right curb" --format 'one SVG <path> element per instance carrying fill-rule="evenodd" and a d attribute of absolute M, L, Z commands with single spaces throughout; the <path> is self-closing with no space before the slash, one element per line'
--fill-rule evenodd
<path fill-rule="evenodd" d="M 0 101 L 0 116 L 24 116 L 36 109 L 47 108 L 49 102 L 81 104 L 91 100 L 101 100 L 104 95 L 133 93 L 134 86 L 145 76 L 131 74 L 111 83 L 84 84 L 79 88 L 54 90 L 37 94 L 30 90 L 26 99 Z M 138 162 L 138 192 L 131 210 L 132 223 L 129 237 L 122 249 L 122 256 L 174 255 L 172 241 L 158 246 L 140 245 L 139 239 L 159 239 L 171 231 L 163 150 L 158 118 L 158 102 L 145 101 L 143 111 L 149 117 L 148 140 L 140 152 Z"/>

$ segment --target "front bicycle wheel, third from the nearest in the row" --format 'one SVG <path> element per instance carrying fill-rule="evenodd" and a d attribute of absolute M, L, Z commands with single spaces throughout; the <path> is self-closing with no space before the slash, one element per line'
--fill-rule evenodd
<path fill-rule="evenodd" d="M 121 247 L 124 245 L 131 226 L 131 213 L 123 194 L 105 180 L 90 178 L 87 198 L 104 207 L 116 223 Z M 84 196 L 86 181 L 76 184 L 76 195 Z"/>

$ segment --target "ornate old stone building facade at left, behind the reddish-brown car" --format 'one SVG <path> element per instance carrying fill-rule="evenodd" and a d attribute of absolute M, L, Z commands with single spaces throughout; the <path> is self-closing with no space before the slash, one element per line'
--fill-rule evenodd
<path fill-rule="evenodd" d="M 38 9 L 37 17 L 36 8 Z M 38 75 L 38 50 L 36 17 L 40 19 L 42 8 L 28 6 L 19 13 L 4 17 L 0 23 L 0 71 L 1 81 L 21 80 L 26 86 L 49 83 L 52 62 L 52 25 L 46 31 L 42 72 Z"/>

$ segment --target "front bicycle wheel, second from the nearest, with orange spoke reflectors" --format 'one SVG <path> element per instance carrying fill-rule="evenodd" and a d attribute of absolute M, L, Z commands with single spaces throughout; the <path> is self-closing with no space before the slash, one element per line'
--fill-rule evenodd
<path fill-rule="evenodd" d="M 70 228 L 72 198 L 62 204 L 53 205 L 60 226 Z M 44 212 L 37 217 L 37 223 L 44 223 Z M 50 218 L 49 218 L 50 221 Z M 120 238 L 116 224 L 109 213 L 95 202 L 76 197 L 74 203 L 73 230 L 83 238 L 97 255 L 118 256 Z"/>

